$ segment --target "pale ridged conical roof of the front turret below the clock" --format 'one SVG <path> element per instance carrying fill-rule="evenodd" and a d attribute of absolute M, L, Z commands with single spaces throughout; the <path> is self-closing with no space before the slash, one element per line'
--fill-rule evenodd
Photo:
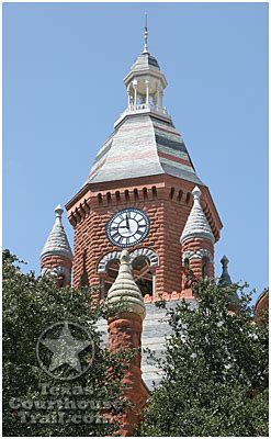
<path fill-rule="evenodd" d="M 117 278 L 109 290 L 106 303 L 117 305 L 123 303 L 125 312 L 131 312 L 145 318 L 146 308 L 139 288 L 135 283 L 129 263 L 129 254 L 123 250 Z M 123 309 L 122 309 L 123 311 Z"/>

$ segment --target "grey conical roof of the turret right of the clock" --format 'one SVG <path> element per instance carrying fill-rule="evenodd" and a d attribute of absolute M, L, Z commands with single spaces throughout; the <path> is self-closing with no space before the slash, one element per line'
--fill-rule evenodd
<path fill-rule="evenodd" d="M 214 243 L 213 232 L 200 203 L 201 190 L 195 187 L 192 194 L 194 196 L 194 204 L 182 232 L 181 244 L 189 238 L 206 238 Z"/>

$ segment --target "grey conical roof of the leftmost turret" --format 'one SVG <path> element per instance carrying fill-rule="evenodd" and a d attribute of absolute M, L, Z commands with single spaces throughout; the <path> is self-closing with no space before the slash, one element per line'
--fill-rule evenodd
<path fill-rule="evenodd" d="M 63 212 L 63 207 L 60 204 L 58 204 L 58 206 L 55 209 L 56 221 L 43 247 L 41 259 L 49 255 L 64 256 L 69 260 L 74 259 L 72 251 L 61 222 Z"/>

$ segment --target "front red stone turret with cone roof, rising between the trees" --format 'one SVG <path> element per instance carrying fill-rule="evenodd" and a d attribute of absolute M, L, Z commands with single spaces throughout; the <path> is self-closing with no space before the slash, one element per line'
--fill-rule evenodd
<path fill-rule="evenodd" d="M 117 278 L 106 297 L 108 305 L 120 304 L 120 311 L 109 318 L 109 349 L 117 352 L 123 349 L 138 349 L 142 346 L 143 319 L 146 315 L 145 304 L 139 288 L 132 275 L 131 258 L 127 250 L 121 254 L 121 266 Z M 134 409 L 128 409 L 122 417 L 120 436 L 133 436 L 133 429 L 138 423 L 138 412 L 147 399 L 147 389 L 142 379 L 142 356 L 135 354 L 125 371 L 124 384 L 127 386 L 125 396 L 133 403 Z"/>

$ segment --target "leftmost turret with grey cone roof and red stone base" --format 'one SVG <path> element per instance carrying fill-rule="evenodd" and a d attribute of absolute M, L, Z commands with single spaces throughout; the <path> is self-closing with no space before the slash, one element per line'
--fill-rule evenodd
<path fill-rule="evenodd" d="M 55 224 L 41 252 L 42 274 L 50 272 L 57 275 L 59 286 L 70 285 L 74 259 L 61 222 L 63 212 L 63 207 L 58 204 L 55 209 Z"/>

